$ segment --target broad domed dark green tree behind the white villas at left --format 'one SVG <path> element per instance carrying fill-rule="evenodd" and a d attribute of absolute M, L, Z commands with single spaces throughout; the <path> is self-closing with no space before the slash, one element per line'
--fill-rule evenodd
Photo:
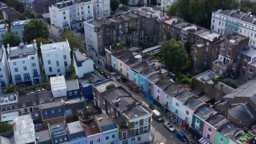
<path fill-rule="evenodd" d="M 32 19 L 24 27 L 24 38 L 28 42 L 36 39 L 37 37 L 42 37 L 47 39 L 48 36 L 49 36 L 48 27 L 41 20 Z"/>

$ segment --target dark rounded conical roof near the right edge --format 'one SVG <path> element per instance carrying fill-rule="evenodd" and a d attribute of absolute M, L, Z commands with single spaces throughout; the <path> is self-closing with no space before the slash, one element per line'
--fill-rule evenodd
<path fill-rule="evenodd" d="M 247 104 L 237 104 L 229 109 L 229 115 L 237 121 L 249 122 L 253 120 L 253 115 L 249 112 Z"/>

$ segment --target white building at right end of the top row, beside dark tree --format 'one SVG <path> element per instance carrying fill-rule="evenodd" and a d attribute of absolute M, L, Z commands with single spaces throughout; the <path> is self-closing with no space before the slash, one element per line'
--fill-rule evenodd
<path fill-rule="evenodd" d="M 110 16 L 110 0 L 93 0 L 93 13 L 96 18 Z"/>

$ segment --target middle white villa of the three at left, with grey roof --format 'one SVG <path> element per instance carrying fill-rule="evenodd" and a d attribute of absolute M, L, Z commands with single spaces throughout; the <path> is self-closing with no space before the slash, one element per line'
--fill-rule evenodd
<path fill-rule="evenodd" d="M 42 82 L 40 62 L 37 56 L 37 44 L 7 47 L 8 63 L 14 85 L 35 86 Z"/>

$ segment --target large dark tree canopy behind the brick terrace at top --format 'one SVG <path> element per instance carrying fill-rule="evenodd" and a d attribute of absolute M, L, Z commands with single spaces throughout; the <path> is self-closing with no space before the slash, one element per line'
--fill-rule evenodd
<path fill-rule="evenodd" d="M 237 0 L 178 0 L 168 9 L 168 16 L 179 16 L 185 21 L 210 27 L 211 13 L 218 9 L 234 9 L 239 6 Z"/>

